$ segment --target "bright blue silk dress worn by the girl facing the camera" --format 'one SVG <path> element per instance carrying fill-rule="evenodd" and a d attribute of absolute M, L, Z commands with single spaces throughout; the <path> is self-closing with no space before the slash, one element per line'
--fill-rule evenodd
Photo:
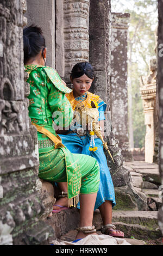
<path fill-rule="evenodd" d="M 100 106 L 102 105 L 102 106 Z M 106 104 L 103 102 L 99 103 L 99 120 L 104 120 L 104 111 L 106 109 Z M 89 133 L 86 136 L 79 136 L 77 133 L 69 133 L 67 135 L 59 135 L 62 139 L 62 143 L 71 151 L 71 153 L 75 154 L 85 154 L 92 157 L 99 163 L 99 171 L 100 171 L 100 182 L 99 182 L 99 190 L 97 193 L 95 209 L 99 208 L 105 200 L 109 200 L 112 202 L 112 207 L 115 206 L 115 192 L 114 185 L 112 183 L 110 171 L 108 168 L 108 164 L 106 162 L 106 157 L 103 151 L 103 144 L 101 139 L 95 138 L 95 144 L 98 149 L 96 151 L 90 151 L 90 135 Z M 79 208 L 79 205 L 78 205 Z"/>

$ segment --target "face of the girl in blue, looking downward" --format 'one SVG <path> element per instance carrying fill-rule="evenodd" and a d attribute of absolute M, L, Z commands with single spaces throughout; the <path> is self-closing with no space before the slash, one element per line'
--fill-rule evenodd
<path fill-rule="evenodd" d="M 73 93 L 74 96 L 80 96 L 85 94 L 91 87 L 93 79 L 87 77 L 85 74 L 78 78 L 71 78 L 71 82 L 73 83 Z"/>

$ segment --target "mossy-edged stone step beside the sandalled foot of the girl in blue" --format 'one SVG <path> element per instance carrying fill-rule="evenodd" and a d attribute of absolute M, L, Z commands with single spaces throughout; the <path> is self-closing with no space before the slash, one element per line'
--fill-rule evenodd
<path fill-rule="evenodd" d="M 157 239 L 161 237 L 158 226 L 158 211 L 115 211 L 112 212 L 112 223 L 124 232 L 125 237 L 135 239 Z M 96 229 L 101 228 L 102 220 L 96 211 L 93 218 Z"/>

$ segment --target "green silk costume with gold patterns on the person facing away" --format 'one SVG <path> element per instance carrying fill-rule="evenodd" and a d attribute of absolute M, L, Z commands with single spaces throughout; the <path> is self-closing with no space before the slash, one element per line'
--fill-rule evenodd
<path fill-rule="evenodd" d="M 53 113 L 62 113 L 64 127 L 70 125 L 73 111 L 66 93 L 71 89 L 62 83 L 57 71 L 46 66 L 26 65 L 30 84 L 29 117 L 48 133 L 55 134 Z M 67 181 L 70 205 L 76 206 L 78 194 L 95 193 L 99 186 L 99 166 L 90 156 L 72 154 L 67 148 L 54 148 L 49 138 L 37 132 L 39 142 L 39 177 L 48 181 Z M 74 199 L 74 200 L 72 200 Z"/>

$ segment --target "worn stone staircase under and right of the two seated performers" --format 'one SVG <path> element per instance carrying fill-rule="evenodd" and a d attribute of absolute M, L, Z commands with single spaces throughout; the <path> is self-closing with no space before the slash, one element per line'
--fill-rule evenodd
<path fill-rule="evenodd" d="M 145 162 L 126 162 L 125 168 L 130 171 L 134 189 L 146 194 L 148 211 L 113 210 L 112 223 L 124 232 L 125 239 L 131 245 L 145 245 L 148 244 L 147 241 L 158 239 L 161 243 L 162 235 L 158 226 L 158 208 L 161 203 L 158 197 L 160 192 L 158 190 L 160 185 L 158 166 Z M 55 239 L 73 241 L 79 223 L 79 210 L 61 211 L 53 214 L 46 222 L 55 230 L 51 242 Z M 97 230 L 101 228 L 102 219 L 99 210 L 94 213 L 93 224 Z M 100 231 L 98 232 L 101 234 Z"/>

